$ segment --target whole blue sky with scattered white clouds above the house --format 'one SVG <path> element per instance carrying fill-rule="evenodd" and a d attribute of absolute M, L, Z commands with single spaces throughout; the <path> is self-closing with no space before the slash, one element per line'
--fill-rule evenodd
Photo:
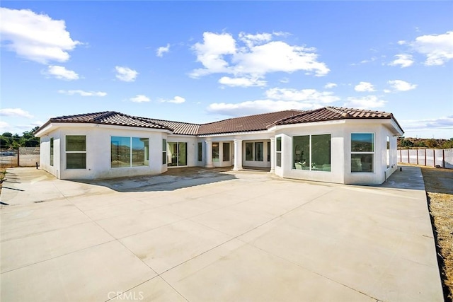
<path fill-rule="evenodd" d="M 453 137 L 452 1 L 2 1 L 0 132 L 323 106 Z"/>

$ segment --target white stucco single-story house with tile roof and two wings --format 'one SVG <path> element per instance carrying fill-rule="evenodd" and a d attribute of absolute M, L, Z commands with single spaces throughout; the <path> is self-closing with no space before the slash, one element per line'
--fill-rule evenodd
<path fill-rule="evenodd" d="M 61 179 L 156 175 L 178 167 L 267 168 L 282 178 L 380 184 L 396 170 L 391 113 L 285 110 L 192 124 L 106 111 L 40 127 L 40 167 Z"/>

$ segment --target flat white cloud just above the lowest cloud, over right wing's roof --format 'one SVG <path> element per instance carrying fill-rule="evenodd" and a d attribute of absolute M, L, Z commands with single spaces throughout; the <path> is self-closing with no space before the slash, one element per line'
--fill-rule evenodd
<path fill-rule="evenodd" d="M 340 100 L 330 91 L 316 91 L 316 89 L 271 88 L 265 95 L 273 100 L 287 100 L 304 103 L 333 103 Z"/>

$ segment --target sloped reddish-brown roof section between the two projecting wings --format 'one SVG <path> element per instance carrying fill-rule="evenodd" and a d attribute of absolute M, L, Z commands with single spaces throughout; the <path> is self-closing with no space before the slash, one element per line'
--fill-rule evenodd
<path fill-rule="evenodd" d="M 251 132 L 268 129 L 268 126 L 277 120 L 299 115 L 300 110 L 285 110 L 278 112 L 263 113 L 261 115 L 248 115 L 246 117 L 234 117 L 228 120 L 212 122 L 200 125 L 198 135 L 224 134 L 234 132 Z"/>

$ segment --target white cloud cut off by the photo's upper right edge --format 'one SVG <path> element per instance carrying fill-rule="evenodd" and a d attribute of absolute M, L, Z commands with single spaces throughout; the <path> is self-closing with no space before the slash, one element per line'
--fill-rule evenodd
<path fill-rule="evenodd" d="M 425 65 L 443 65 L 453 59 L 453 31 L 441 35 L 422 35 L 411 46 L 426 55 Z"/>

